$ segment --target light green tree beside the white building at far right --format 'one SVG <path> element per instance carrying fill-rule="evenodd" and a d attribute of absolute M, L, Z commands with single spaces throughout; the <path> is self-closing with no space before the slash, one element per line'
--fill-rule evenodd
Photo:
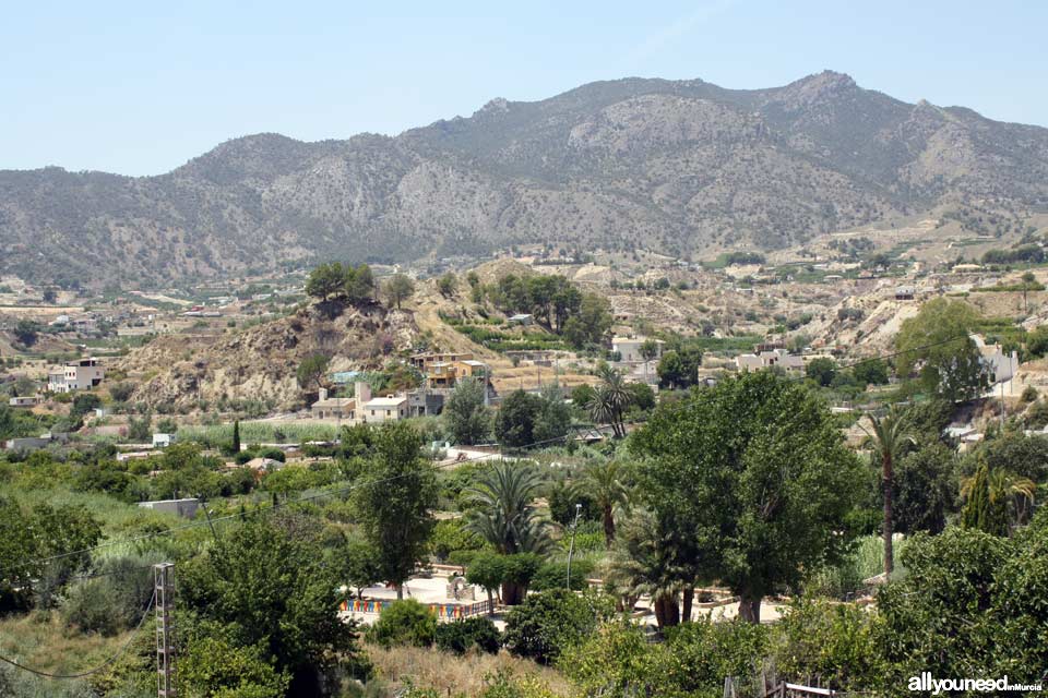
<path fill-rule="evenodd" d="M 980 395 L 989 376 L 968 336 L 978 321 L 978 313 L 964 301 L 937 298 L 925 303 L 895 336 L 900 377 L 916 372 L 925 390 L 951 402 Z"/>

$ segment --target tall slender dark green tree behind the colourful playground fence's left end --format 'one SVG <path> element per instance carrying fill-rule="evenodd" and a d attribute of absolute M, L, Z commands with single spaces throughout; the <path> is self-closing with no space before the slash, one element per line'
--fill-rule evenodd
<path fill-rule="evenodd" d="M 374 457 L 355 504 L 368 542 L 379 554 L 383 579 L 404 582 L 426 552 L 437 505 L 432 464 L 419 454 L 421 437 L 406 422 L 383 424 L 374 435 Z M 373 483 L 373 484 L 370 484 Z"/>

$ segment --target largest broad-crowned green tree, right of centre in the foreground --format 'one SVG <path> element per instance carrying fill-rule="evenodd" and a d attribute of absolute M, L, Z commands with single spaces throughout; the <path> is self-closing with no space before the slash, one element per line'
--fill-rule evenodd
<path fill-rule="evenodd" d="M 693 531 L 693 559 L 760 619 L 761 599 L 839 559 L 859 465 L 826 407 L 769 371 L 659 406 L 633 435 L 639 490 Z"/>

